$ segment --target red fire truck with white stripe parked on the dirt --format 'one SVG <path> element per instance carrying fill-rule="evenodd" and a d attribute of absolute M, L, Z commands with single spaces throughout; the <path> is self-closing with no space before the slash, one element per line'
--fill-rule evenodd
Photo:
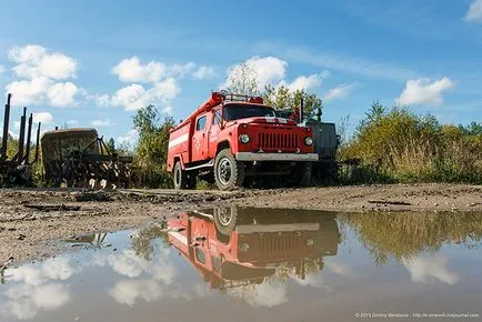
<path fill-rule="evenodd" d="M 212 178 L 220 190 L 241 187 L 247 177 L 284 175 L 291 185 L 310 182 L 311 128 L 275 115 L 260 97 L 213 92 L 171 130 L 167 169 L 175 189 L 195 189 Z"/>

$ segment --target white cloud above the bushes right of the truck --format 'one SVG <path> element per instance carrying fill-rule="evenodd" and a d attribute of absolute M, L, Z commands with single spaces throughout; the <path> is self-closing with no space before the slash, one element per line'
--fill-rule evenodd
<path fill-rule="evenodd" d="M 409 80 L 400 98 L 395 99 L 395 103 L 440 105 L 443 103 L 442 92 L 453 87 L 452 81 L 446 77 L 433 82 L 430 82 L 430 79 Z"/>

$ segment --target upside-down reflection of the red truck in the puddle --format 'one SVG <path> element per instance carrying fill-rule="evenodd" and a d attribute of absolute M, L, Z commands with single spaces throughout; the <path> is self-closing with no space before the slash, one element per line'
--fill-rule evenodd
<path fill-rule="evenodd" d="M 300 279 L 335 255 L 334 214 L 228 208 L 191 212 L 168 222 L 169 242 L 213 289 L 259 284 L 277 271 Z M 315 266 L 315 268 L 313 268 Z"/>

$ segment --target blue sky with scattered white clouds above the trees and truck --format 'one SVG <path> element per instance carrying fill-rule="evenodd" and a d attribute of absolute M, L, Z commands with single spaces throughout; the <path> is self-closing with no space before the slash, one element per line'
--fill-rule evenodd
<path fill-rule="evenodd" d="M 482 121 L 482 0 L 227 2 L 2 1 L 0 89 L 46 129 L 132 141 L 137 108 L 182 119 L 248 61 L 324 98 L 324 120 L 380 100 Z"/>

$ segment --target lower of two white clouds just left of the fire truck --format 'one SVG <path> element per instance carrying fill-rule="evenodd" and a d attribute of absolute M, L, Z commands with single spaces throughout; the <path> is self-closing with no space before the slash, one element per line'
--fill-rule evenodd
<path fill-rule="evenodd" d="M 149 104 L 165 105 L 179 92 L 180 88 L 173 78 L 160 81 L 150 89 L 134 83 L 118 90 L 110 99 L 110 104 L 123 107 L 125 111 L 137 111 Z"/>

